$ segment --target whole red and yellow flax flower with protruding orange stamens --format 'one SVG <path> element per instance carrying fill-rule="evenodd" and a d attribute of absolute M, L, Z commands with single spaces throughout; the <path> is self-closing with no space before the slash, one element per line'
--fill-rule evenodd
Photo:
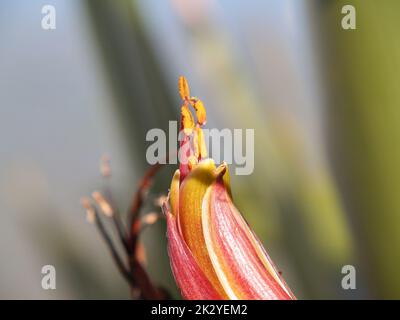
<path fill-rule="evenodd" d="M 202 101 L 190 96 L 184 77 L 178 87 L 183 101 L 180 166 L 163 209 L 171 268 L 182 296 L 295 299 L 233 204 L 227 164 L 216 166 L 207 158 Z"/>

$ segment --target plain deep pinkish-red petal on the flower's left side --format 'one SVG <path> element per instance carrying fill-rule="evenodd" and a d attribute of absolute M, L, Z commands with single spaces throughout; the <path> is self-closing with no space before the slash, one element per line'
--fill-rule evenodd
<path fill-rule="evenodd" d="M 221 297 L 201 271 L 178 231 L 176 218 L 164 208 L 167 216 L 168 254 L 172 273 L 187 300 L 219 300 Z"/>

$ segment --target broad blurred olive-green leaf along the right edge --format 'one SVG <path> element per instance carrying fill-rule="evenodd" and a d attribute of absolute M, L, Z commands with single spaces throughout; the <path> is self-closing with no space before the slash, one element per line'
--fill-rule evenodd
<path fill-rule="evenodd" d="M 357 29 L 343 30 L 353 5 Z M 332 162 L 378 298 L 400 298 L 400 2 L 316 1 Z"/>

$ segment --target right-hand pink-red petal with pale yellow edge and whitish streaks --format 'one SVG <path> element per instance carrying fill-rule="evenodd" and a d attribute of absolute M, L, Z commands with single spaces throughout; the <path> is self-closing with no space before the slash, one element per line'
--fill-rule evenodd
<path fill-rule="evenodd" d="M 207 193 L 203 203 L 204 237 L 214 270 L 228 296 L 231 299 L 293 299 L 262 245 L 233 205 L 222 181 Z"/>

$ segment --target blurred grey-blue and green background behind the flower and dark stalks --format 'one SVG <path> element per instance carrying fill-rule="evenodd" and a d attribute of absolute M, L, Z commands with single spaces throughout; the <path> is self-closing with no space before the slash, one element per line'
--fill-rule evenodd
<path fill-rule="evenodd" d="M 255 129 L 255 170 L 233 176 L 233 196 L 296 296 L 400 298 L 399 32 L 397 0 L 1 1 L 0 298 L 129 299 L 79 199 L 101 188 L 106 153 L 126 211 L 146 132 L 177 119 L 181 74 L 208 128 Z M 143 242 L 179 298 L 164 221 Z M 56 290 L 41 287 L 47 264 Z"/>

